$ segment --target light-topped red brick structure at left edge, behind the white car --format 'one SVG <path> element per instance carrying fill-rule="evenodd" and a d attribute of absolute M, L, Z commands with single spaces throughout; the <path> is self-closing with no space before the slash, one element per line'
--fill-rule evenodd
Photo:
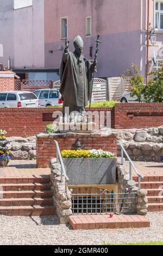
<path fill-rule="evenodd" d="M 4 92 L 6 90 L 15 90 L 15 83 L 14 83 L 14 72 L 11 71 L 0 71 L 0 91 Z M 5 76 L 12 76 L 12 77 L 5 77 Z"/>

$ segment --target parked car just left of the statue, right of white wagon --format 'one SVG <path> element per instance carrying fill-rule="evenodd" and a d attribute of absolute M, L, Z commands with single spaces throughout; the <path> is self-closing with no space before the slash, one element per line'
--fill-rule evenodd
<path fill-rule="evenodd" d="M 39 98 L 40 106 L 58 106 L 62 103 L 59 89 L 40 89 L 34 94 Z"/>

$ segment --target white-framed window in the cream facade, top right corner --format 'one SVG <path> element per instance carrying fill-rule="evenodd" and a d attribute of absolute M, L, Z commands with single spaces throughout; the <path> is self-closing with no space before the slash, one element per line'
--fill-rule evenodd
<path fill-rule="evenodd" d="M 163 1 L 155 2 L 155 28 L 163 29 Z"/>

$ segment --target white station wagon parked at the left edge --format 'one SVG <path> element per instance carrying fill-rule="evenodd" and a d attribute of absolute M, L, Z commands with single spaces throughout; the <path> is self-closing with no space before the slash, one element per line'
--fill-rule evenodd
<path fill-rule="evenodd" d="M 0 108 L 39 107 L 39 99 L 32 92 L 0 92 Z"/>

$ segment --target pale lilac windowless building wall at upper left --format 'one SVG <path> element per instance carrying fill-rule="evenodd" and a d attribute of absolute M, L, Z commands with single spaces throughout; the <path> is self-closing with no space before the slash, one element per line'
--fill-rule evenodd
<path fill-rule="evenodd" d="M 0 63 L 10 57 L 22 79 L 58 79 L 45 66 L 44 0 L 1 0 L 0 23 Z"/>

